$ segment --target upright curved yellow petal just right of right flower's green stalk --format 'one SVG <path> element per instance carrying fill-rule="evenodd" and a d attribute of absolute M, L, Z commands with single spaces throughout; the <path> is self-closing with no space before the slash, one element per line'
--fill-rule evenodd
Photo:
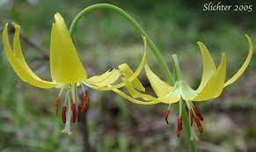
<path fill-rule="evenodd" d="M 216 64 L 211 54 L 209 54 L 207 47 L 200 41 L 197 42 L 197 44 L 200 47 L 202 58 L 201 83 L 197 91 L 201 91 L 204 88 L 204 86 L 208 83 L 208 80 L 211 78 L 211 76 L 216 72 Z"/>

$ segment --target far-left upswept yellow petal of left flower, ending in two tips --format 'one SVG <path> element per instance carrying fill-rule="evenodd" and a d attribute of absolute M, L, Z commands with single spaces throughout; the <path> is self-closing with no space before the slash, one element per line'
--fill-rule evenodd
<path fill-rule="evenodd" d="M 41 80 L 40 77 L 36 76 L 33 71 L 28 67 L 25 58 L 22 54 L 22 50 L 19 43 L 20 27 L 13 24 L 15 27 L 15 33 L 13 38 L 13 51 L 11 49 L 9 38 L 8 38 L 8 24 L 4 25 L 3 31 L 3 44 L 4 52 L 11 64 L 12 69 L 18 75 L 18 77 L 26 83 L 30 83 L 40 88 L 53 88 L 58 87 L 59 84 Z"/>

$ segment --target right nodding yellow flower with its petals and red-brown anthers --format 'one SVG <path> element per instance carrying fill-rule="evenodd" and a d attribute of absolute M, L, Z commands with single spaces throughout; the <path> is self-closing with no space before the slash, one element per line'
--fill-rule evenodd
<path fill-rule="evenodd" d="M 143 98 L 146 100 L 146 102 L 143 101 L 134 101 L 137 104 L 143 104 L 143 105 L 151 105 L 151 104 L 157 104 L 159 102 L 168 104 L 168 109 L 165 111 L 165 120 L 168 123 L 168 115 L 169 115 L 169 109 L 172 104 L 179 102 L 179 119 L 178 119 L 178 125 L 177 125 L 177 135 L 179 136 L 181 134 L 182 130 L 182 118 L 181 118 L 181 112 L 182 112 L 182 101 L 184 100 L 187 108 L 189 110 L 190 115 L 190 126 L 191 126 L 191 139 L 196 140 L 196 134 L 193 128 L 193 124 L 195 122 L 196 127 L 198 128 L 199 132 L 202 133 L 203 128 L 201 126 L 201 121 L 203 120 L 201 116 L 201 112 L 194 106 L 193 102 L 202 102 L 206 101 L 211 98 L 217 98 L 221 95 L 223 92 L 223 89 L 230 85 L 231 83 L 234 83 L 239 76 L 241 76 L 244 72 L 247 66 L 249 65 L 249 62 L 252 58 L 253 53 L 253 47 L 252 47 L 252 40 L 245 34 L 245 37 L 247 38 L 249 42 L 249 54 L 247 55 L 244 64 L 242 67 L 238 70 L 238 72 L 232 76 L 228 81 L 226 81 L 226 55 L 222 53 L 222 59 L 221 63 L 216 68 L 216 64 L 211 56 L 211 54 L 208 52 L 208 48 L 201 42 L 198 42 L 197 44 L 200 47 L 201 50 L 201 56 L 202 56 L 202 76 L 201 76 L 201 83 L 197 90 L 192 89 L 189 87 L 187 82 L 182 79 L 181 71 L 179 69 L 179 62 L 177 55 L 172 55 L 172 65 L 174 70 L 174 76 L 176 82 L 174 83 L 174 86 L 171 86 L 168 83 L 165 83 L 162 81 L 153 71 L 150 69 L 149 65 L 145 64 L 145 71 L 146 76 L 148 77 L 150 81 L 150 85 L 152 89 L 157 94 L 157 98 L 152 97 L 150 95 L 144 94 L 138 90 L 136 90 L 132 85 L 127 85 L 129 94 L 133 98 Z"/>

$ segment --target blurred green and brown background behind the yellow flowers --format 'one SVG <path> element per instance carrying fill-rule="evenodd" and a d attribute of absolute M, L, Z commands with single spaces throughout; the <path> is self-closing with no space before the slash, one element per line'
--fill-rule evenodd
<path fill-rule="evenodd" d="M 252 12 L 202 11 L 206 1 L 99 1 L 99 0 L 0 0 L 0 28 L 15 21 L 41 49 L 25 40 L 22 47 L 34 71 L 50 79 L 48 61 L 42 57 L 49 48 L 50 29 L 55 12 L 66 24 L 91 4 L 111 3 L 134 17 L 149 33 L 171 67 L 171 55 L 179 55 L 187 81 L 197 87 L 201 80 L 201 54 L 197 41 L 208 46 L 218 63 L 220 53 L 228 56 L 228 78 L 242 65 L 248 50 L 244 34 L 256 44 L 255 3 Z M 226 3 L 227 4 L 227 3 Z M 73 35 L 79 55 L 90 76 L 99 75 L 127 62 L 135 69 L 142 58 L 143 40 L 128 22 L 111 11 L 93 11 L 78 24 Z M 23 83 L 14 74 L 0 42 L 0 151 L 86 151 L 84 130 L 72 127 L 73 134 L 62 134 L 61 118 L 55 117 L 58 90 L 42 90 Z M 48 52 L 47 52 L 48 53 Z M 149 51 L 150 67 L 164 78 Z M 204 115 L 200 141 L 202 152 L 256 151 L 256 70 L 255 56 L 237 83 L 220 98 L 197 104 Z M 144 72 L 140 80 L 149 87 Z M 172 108 L 171 125 L 163 112 L 167 105 L 134 105 L 113 92 L 88 90 L 89 141 L 93 151 L 143 152 L 184 151 L 187 141 L 176 137 L 177 111 Z M 184 134 L 183 134 L 184 135 Z"/>

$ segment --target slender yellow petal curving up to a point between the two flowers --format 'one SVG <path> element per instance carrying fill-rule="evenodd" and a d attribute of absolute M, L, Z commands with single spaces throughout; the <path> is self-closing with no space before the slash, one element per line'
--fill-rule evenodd
<path fill-rule="evenodd" d="M 144 39 L 143 37 L 143 40 L 144 40 L 144 44 L 146 43 L 146 40 Z M 146 50 L 146 46 L 144 45 L 144 53 L 143 53 L 143 59 L 142 59 L 142 62 L 140 63 L 140 65 L 138 66 L 138 68 L 135 70 L 135 73 L 131 76 L 129 76 L 126 81 L 128 83 L 131 83 L 133 82 L 137 76 L 140 75 L 141 71 L 143 70 L 143 67 L 145 65 L 145 62 L 146 62 L 146 58 L 147 58 L 147 50 Z M 119 66 L 120 67 L 120 66 Z M 122 66 L 121 66 L 122 67 Z M 121 69 L 120 69 L 121 70 Z M 90 83 L 90 80 L 88 81 L 87 80 L 84 80 L 84 84 L 91 87 L 92 89 L 95 89 L 95 90 L 113 90 L 113 89 L 118 89 L 118 88 L 121 88 L 121 87 L 124 87 L 126 85 L 126 83 L 118 83 L 118 84 L 115 84 L 115 85 L 111 85 L 111 86 L 94 86 L 93 83 Z"/>

